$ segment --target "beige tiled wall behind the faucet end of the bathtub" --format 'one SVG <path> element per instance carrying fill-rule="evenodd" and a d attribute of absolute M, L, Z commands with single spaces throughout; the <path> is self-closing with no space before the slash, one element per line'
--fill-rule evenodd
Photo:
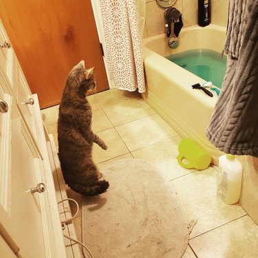
<path fill-rule="evenodd" d="M 226 26 L 228 20 L 228 1 L 211 0 L 211 23 Z M 197 0 L 178 0 L 173 7 L 182 13 L 184 27 L 198 23 Z M 146 38 L 164 32 L 164 8 L 158 6 L 155 0 L 146 0 L 146 19 L 143 37 Z"/>

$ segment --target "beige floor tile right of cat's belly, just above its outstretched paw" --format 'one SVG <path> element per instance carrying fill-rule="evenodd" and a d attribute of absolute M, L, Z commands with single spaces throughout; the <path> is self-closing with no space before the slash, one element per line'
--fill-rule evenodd
<path fill-rule="evenodd" d="M 107 129 L 112 128 L 113 125 L 107 118 L 107 115 L 103 111 L 103 109 L 96 109 L 93 111 L 92 116 L 92 130 L 94 133 L 98 133 L 99 131 L 105 131 Z"/>

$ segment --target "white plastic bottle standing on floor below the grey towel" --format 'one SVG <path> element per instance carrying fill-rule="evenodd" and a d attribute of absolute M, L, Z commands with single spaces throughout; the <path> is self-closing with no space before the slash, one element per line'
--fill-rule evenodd
<path fill-rule="evenodd" d="M 242 165 L 235 155 L 226 154 L 219 157 L 217 194 L 226 204 L 239 202 L 242 170 Z"/>

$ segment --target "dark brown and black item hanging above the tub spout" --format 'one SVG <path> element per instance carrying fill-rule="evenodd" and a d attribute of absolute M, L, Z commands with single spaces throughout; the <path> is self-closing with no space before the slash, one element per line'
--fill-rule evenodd
<path fill-rule="evenodd" d="M 175 36 L 180 34 L 180 30 L 183 27 L 182 14 L 178 9 L 173 7 L 166 8 L 164 12 L 165 24 L 167 25 L 166 36 L 169 38 L 171 35 L 171 23 L 174 23 L 173 32 Z"/>

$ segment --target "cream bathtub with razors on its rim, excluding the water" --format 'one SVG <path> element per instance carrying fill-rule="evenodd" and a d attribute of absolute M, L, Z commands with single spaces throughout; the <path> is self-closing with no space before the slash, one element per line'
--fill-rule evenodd
<path fill-rule="evenodd" d="M 143 39 L 144 70 L 147 91 L 142 98 L 182 137 L 195 140 L 212 156 L 217 164 L 223 155 L 205 136 L 217 95 L 207 96 L 195 83 L 205 80 L 164 58 L 186 50 L 205 48 L 221 53 L 226 28 L 210 24 L 204 28 L 193 25 L 183 28 L 178 37 L 180 44 L 171 49 L 166 34 Z"/>

